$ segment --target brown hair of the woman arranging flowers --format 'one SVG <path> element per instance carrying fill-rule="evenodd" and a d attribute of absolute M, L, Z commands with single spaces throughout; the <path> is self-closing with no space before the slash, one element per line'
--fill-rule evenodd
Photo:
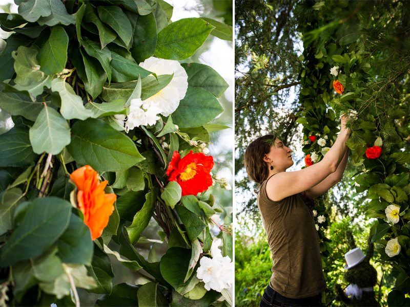
<path fill-rule="evenodd" d="M 268 179 L 269 170 L 266 162 L 263 161 L 263 156 L 271 151 L 271 146 L 275 144 L 275 140 L 274 135 L 265 135 L 257 138 L 245 150 L 243 163 L 248 176 L 259 184 Z"/>

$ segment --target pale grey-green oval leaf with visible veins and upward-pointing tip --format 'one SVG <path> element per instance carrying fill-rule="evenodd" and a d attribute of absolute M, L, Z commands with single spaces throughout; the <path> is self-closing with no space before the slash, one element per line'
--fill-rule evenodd
<path fill-rule="evenodd" d="M 64 81 L 63 81 L 64 82 Z M 55 109 L 44 105 L 34 125 L 30 128 L 30 142 L 35 153 L 57 155 L 70 144 L 70 127 Z"/>

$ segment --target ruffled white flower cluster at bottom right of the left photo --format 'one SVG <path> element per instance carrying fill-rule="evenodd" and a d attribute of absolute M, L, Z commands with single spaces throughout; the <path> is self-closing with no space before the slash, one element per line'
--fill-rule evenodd
<path fill-rule="evenodd" d="M 222 257 L 219 246 L 221 239 L 215 239 L 211 246 L 211 256 L 202 257 L 199 261 L 199 268 L 196 277 L 205 283 L 205 289 L 221 292 L 223 289 L 232 287 L 233 266 L 229 256 Z"/>

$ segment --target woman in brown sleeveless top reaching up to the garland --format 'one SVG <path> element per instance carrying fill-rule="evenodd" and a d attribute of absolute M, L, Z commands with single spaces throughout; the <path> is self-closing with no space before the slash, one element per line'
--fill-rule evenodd
<path fill-rule="evenodd" d="M 323 194 L 340 181 L 346 167 L 350 131 L 341 118 L 341 131 L 323 159 L 298 171 L 292 150 L 272 135 L 253 141 L 245 151 L 249 177 L 261 184 L 257 202 L 274 265 L 260 306 L 320 306 L 326 284 L 319 237 L 306 200 Z M 308 201 L 309 203 L 309 201 Z"/>

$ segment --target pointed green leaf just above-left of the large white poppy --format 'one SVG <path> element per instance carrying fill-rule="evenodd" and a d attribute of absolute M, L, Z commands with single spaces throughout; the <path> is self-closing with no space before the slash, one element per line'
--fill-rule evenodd
<path fill-rule="evenodd" d="M 111 69 L 112 79 L 114 82 L 127 82 L 137 80 L 138 76 L 145 78 L 151 72 L 137 65 L 134 59 L 125 58 L 113 51 L 111 51 Z"/>

